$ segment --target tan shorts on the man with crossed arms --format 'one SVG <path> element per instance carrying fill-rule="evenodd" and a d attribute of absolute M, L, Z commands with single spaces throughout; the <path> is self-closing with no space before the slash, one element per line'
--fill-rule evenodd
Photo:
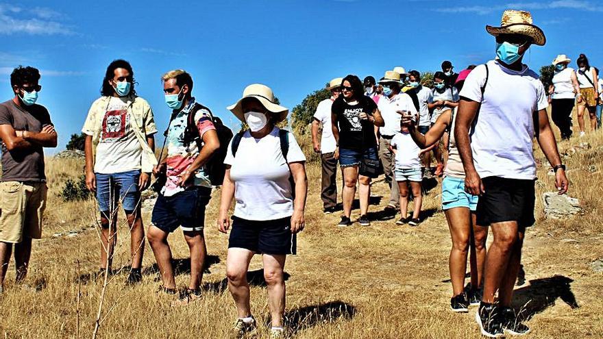
<path fill-rule="evenodd" d="M 0 182 L 1 242 L 19 243 L 23 236 L 42 238 L 47 190 L 44 182 Z"/>

